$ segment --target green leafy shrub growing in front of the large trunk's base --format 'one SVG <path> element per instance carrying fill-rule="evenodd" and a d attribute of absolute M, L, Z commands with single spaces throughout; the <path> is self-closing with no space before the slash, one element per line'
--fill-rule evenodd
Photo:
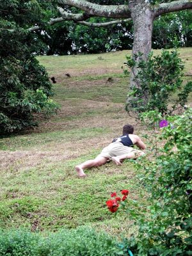
<path fill-rule="evenodd" d="M 137 113 L 156 109 L 158 112 L 172 113 L 180 106 L 184 106 L 192 91 L 192 82 L 182 86 L 184 65 L 177 51 L 163 51 L 161 55 L 153 56 L 150 52 L 147 61 L 142 60 L 142 54 L 134 58 L 127 56 L 127 65 L 138 74 L 134 77 L 131 92 L 128 94 L 127 111 Z M 182 88 L 182 91 L 179 91 Z M 170 98 L 177 91 L 175 104 L 170 108 Z"/>

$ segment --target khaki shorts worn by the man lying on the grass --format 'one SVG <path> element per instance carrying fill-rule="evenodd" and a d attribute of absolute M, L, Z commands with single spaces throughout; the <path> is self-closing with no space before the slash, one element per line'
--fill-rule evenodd
<path fill-rule="evenodd" d="M 141 151 L 132 147 L 124 146 L 121 142 L 113 142 L 109 144 L 108 147 L 105 147 L 99 156 L 111 159 L 113 156 L 122 156 L 124 154 L 129 154 L 130 152 L 134 152 L 135 155 L 137 155 Z"/>

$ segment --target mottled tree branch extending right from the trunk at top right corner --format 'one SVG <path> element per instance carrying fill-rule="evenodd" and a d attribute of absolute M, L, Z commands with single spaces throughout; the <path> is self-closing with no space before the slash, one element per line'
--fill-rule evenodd
<path fill-rule="evenodd" d="M 179 0 L 170 3 L 162 3 L 154 7 L 155 17 L 169 12 L 192 9 L 192 0 Z"/>

